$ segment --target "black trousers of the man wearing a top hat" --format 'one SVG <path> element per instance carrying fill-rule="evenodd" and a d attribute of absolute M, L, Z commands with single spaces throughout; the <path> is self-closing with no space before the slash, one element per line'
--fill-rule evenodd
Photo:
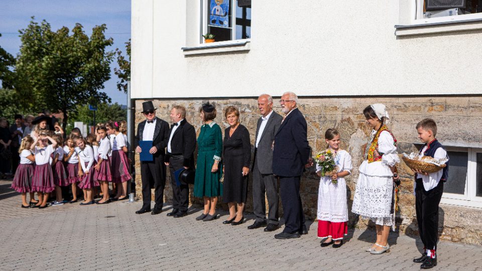
<path fill-rule="evenodd" d="M 154 158 L 153 162 L 141 162 L 142 207 L 151 209 L 151 189 L 154 188 L 154 209 L 162 209 L 164 186 L 166 185 L 166 165 L 164 156 Z"/>

